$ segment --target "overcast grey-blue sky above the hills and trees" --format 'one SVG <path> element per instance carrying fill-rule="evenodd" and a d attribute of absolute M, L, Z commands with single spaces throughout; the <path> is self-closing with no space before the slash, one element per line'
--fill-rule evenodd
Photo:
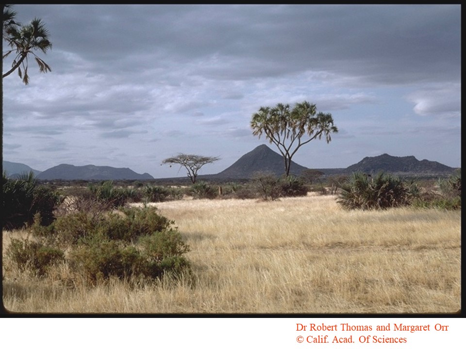
<path fill-rule="evenodd" d="M 262 106 L 307 100 L 339 133 L 293 158 L 350 166 L 383 153 L 461 166 L 460 5 L 16 5 L 52 49 L 3 79 L 3 159 L 156 178 L 179 153 L 218 173 L 266 139 Z M 3 51 L 6 47 L 3 44 Z M 11 61 L 3 62 L 3 71 Z"/>

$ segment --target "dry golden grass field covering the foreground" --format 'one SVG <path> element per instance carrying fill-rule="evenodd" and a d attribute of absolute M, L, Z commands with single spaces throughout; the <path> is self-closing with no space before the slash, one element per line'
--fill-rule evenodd
<path fill-rule="evenodd" d="M 3 267 L 11 312 L 452 313 L 461 309 L 461 211 L 347 211 L 335 196 L 156 204 L 191 251 L 193 275 L 131 287 L 59 283 Z M 3 254 L 11 236 L 3 232 Z M 5 267 L 8 269 L 6 270 Z M 58 280 L 58 281 L 57 281 Z"/>

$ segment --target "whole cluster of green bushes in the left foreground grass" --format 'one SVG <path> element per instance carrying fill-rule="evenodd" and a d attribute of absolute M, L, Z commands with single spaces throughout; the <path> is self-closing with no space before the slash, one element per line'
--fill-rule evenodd
<path fill-rule="evenodd" d="M 12 239 L 7 254 L 20 270 L 36 275 L 46 275 L 51 265 L 65 261 L 90 285 L 112 276 L 131 280 L 178 275 L 189 272 L 184 256 L 189 246 L 173 224 L 155 207 L 78 211 L 46 227 L 36 215 L 34 240 Z"/>

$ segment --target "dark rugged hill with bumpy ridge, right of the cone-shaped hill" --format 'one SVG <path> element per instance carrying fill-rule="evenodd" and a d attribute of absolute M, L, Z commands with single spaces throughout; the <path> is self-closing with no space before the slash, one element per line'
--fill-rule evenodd
<path fill-rule="evenodd" d="M 394 157 L 382 154 L 372 158 L 366 157 L 345 170 L 347 173 L 356 171 L 366 173 L 384 171 L 389 173 L 442 174 L 453 172 L 454 168 L 436 161 L 419 161 L 414 156 Z"/>

